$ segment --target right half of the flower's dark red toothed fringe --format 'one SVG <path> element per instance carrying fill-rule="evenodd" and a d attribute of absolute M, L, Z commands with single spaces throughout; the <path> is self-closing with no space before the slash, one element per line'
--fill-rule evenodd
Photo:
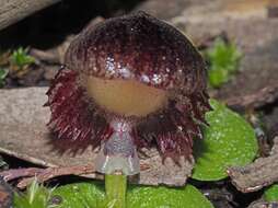
<path fill-rule="evenodd" d="M 201 138 L 200 126 L 208 125 L 205 113 L 210 109 L 208 95 L 204 92 L 184 101 L 170 101 L 166 109 L 150 115 L 136 127 L 135 142 L 148 147 L 154 140 L 163 161 L 171 158 L 178 164 L 181 157 L 190 160 L 193 140 Z"/>

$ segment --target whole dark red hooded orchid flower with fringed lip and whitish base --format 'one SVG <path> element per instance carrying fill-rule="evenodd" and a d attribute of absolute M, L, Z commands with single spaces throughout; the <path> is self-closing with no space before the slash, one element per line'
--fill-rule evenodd
<path fill-rule="evenodd" d="M 143 12 L 89 26 L 70 44 L 48 94 L 55 142 L 101 148 L 102 173 L 137 174 L 137 151 L 192 155 L 210 106 L 200 54 L 173 26 Z"/>

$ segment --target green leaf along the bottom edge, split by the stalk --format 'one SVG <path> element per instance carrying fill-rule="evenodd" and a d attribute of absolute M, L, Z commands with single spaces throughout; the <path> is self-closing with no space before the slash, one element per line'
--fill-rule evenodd
<path fill-rule="evenodd" d="M 99 183 L 60 186 L 54 195 L 62 198 L 57 208 L 104 208 L 104 188 Z M 210 201 L 194 186 L 183 188 L 131 186 L 127 208 L 212 208 Z"/>

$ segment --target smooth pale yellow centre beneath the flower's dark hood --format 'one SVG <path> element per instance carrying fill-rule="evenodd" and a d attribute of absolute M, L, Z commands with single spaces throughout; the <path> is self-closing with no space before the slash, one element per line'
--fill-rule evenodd
<path fill-rule="evenodd" d="M 164 90 L 132 80 L 86 78 L 88 94 L 100 106 L 124 116 L 146 116 L 167 102 Z"/>

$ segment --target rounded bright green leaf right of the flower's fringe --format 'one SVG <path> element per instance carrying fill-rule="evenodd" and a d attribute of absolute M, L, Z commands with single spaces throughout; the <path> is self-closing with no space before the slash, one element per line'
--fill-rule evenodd
<path fill-rule="evenodd" d="M 206 114 L 204 140 L 195 140 L 193 178 L 217 181 L 227 177 L 227 167 L 251 163 L 258 151 L 255 131 L 239 114 L 215 100 Z"/>

